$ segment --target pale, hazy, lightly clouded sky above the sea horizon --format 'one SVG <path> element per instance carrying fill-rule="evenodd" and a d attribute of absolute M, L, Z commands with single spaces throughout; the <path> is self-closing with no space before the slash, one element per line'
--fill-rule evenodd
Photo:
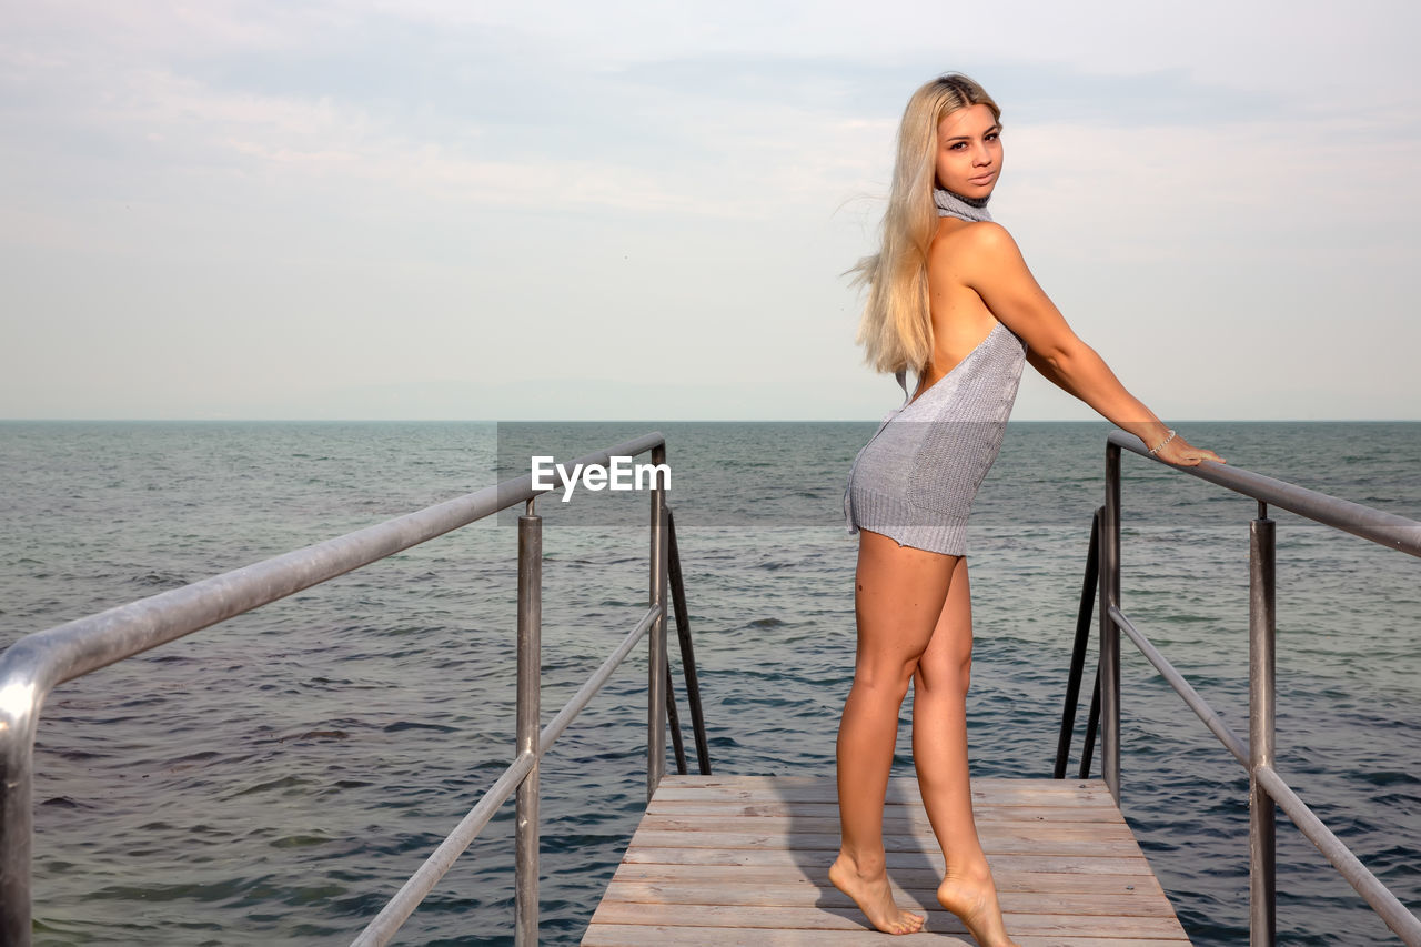
<path fill-rule="evenodd" d="M 1421 419 L 1421 4 L 0 9 L 0 418 L 878 419 L 908 95 L 1167 422 Z M 1013 419 L 1098 419 L 1027 367 Z"/>

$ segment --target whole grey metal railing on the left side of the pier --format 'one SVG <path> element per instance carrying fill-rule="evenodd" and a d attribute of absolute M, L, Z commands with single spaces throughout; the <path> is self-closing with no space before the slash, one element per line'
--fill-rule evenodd
<path fill-rule="evenodd" d="M 651 452 L 654 465 L 666 462 L 661 434 L 645 434 L 576 464 L 607 465 L 614 456 Z M 560 478 L 560 475 L 558 475 Z M 669 701 L 671 660 L 666 651 L 668 584 L 681 644 L 686 698 L 691 705 L 701 772 L 710 772 L 701 690 L 691 647 L 691 626 L 681 580 L 675 520 L 666 485 L 651 485 L 649 607 L 612 654 L 593 673 L 558 714 L 539 729 L 541 688 L 543 520 L 533 501 L 543 491 L 527 476 L 429 506 L 306 549 L 297 549 L 243 569 L 203 579 L 47 631 L 28 634 L 0 656 L 0 943 L 30 944 L 30 862 L 34 836 L 34 737 L 40 710 L 50 691 L 65 681 L 166 644 L 200 628 L 368 566 L 404 549 L 442 536 L 499 510 L 524 503 L 519 518 L 517 593 L 517 721 L 516 755 L 453 832 L 425 860 L 384 910 L 355 938 L 355 944 L 385 944 L 459 855 L 489 823 L 510 795 L 516 799 L 514 940 L 537 943 L 539 880 L 539 759 L 591 701 L 607 678 L 648 636 L 647 678 L 647 798 L 665 774 L 668 712 L 672 718 L 676 766 L 686 772 L 675 702 Z"/>

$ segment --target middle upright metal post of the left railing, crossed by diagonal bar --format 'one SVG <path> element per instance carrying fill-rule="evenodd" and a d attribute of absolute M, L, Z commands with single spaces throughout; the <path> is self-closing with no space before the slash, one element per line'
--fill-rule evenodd
<path fill-rule="evenodd" d="M 539 873 L 539 731 L 543 690 L 543 519 L 527 501 L 519 516 L 519 685 L 517 754 L 531 755 L 519 782 L 514 852 L 514 924 L 517 947 L 537 947 Z"/>

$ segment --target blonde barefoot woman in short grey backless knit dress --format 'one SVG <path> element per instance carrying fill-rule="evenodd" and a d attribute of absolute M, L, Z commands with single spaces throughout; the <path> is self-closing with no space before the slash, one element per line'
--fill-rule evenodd
<path fill-rule="evenodd" d="M 946 859 L 938 900 L 980 947 L 1013 947 L 972 819 L 966 691 L 972 603 L 965 530 L 996 461 L 1025 363 L 1178 465 L 1223 462 L 1191 446 L 1120 384 L 1036 284 L 986 210 L 1002 173 L 1000 109 L 980 85 L 942 75 L 908 101 L 858 341 L 868 363 L 917 385 L 858 452 L 844 492 L 860 535 L 858 651 L 838 729 L 843 842 L 828 877 L 878 930 L 924 917 L 890 893 L 884 795 L 898 710 L 914 687 L 912 759 Z"/>

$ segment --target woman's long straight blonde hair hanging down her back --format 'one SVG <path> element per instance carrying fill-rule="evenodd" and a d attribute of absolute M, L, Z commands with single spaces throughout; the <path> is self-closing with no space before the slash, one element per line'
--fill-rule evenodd
<path fill-rule="evenodd" d="M 938 230 L 938 124 L 959 108 L 1002 109 L 986 91 L 961 73 L 932 80 L 908 100 L 898 125 L 898 159 L 882 219 L 882 246 L 854 266 L 853 286 L 868 286 L 858 326 L 864 361 L 875 371 L 919 371 L 932 357 L 928 314 L 928 246 Z"/>

